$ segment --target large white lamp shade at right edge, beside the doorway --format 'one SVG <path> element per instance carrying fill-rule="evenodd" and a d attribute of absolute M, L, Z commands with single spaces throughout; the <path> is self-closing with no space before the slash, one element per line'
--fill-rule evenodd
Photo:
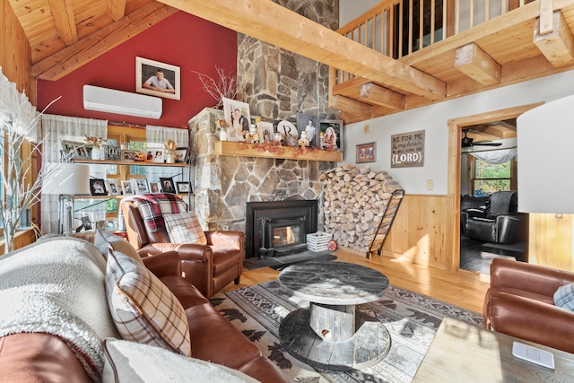
<path fill-rule="evenodd" d="M 517 118 L 518 211 L 574 213 L 574 96 Z"/>

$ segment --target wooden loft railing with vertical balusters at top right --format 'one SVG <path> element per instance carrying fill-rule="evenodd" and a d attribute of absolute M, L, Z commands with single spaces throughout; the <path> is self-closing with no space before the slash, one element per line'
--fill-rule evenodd
<path fill-rule="evenodd" d="M 337 30 L 388 57 L 401 58 L 534 0 L 387 0 Z M 336 82 L 352 74 L 336 71 Z"/>

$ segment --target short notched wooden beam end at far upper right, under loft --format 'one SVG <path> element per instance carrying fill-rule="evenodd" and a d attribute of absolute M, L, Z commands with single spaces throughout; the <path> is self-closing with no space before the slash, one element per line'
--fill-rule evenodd
<path fill-rule="evenodd" d="M 554 68 L 574 64 L 574 36 L 560 11 L 552 14 L 552 31 L 542 33 L 540 17 L 535 22 L 534 43 Z"/>

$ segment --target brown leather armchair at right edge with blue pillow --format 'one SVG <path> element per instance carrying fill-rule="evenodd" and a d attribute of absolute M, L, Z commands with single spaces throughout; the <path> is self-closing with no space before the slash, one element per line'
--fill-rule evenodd
<path fill-rule="evenodd" d="M 554 306 L 553 295 L 574 273 L 495 258 L 483 306 L 483 326 L 574 353 L 574 311 Z"/>

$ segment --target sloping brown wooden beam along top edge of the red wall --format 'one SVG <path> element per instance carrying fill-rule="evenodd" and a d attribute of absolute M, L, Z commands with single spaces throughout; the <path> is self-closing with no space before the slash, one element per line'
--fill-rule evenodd
<path fill-rule="evenodd" d="M 32 65 L 31 75 L 43 80 L 58 80 L 176 12 L 177 9 L 157 2 L 146 5 Z"/>

